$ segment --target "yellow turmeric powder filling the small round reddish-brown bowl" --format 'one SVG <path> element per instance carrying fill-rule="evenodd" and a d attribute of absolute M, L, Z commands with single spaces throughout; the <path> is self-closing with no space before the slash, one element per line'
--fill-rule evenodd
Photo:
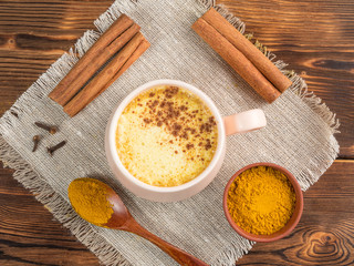
<path fill-rule="evenodd" d="M 232 219 L 256 235 L 281 229 L 295 207 L 295 192 L 288 177 L 269 166 L 257 166 L 237 176 L 228 192 Z"/>

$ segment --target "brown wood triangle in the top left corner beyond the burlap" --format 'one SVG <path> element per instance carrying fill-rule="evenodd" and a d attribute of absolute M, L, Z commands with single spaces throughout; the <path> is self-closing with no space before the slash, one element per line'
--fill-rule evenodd
<path fill-rule="evenodd" d="M 0 2 L 0 115 L 112 1 Z"/>

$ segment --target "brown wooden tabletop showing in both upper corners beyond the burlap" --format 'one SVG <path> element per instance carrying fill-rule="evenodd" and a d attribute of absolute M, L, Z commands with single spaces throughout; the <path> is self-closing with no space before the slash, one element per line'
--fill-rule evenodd
<path fill-rule="evenodd" d="M 341 120 L 341 157 L 354 158 L 354 3 L 347 0 L 226 1 L 230 11 Z M 0 3 L 0 114 L 64 53 L 111 1 Z M 351 8 L 352 7 L 352 8 Z M 305 21 L 305 24 L 304 24 Z"/>

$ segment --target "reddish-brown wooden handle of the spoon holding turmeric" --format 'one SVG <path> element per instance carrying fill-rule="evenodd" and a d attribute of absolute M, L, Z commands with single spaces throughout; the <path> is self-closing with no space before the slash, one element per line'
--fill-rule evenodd
<path fill-rule="evenodd" d="M 167 253 L 171 258 L 174 258 L 177 263 L 184 266 L 208 266 L 205 262 L 196 258 L 195 256 L 181 250 L 180 248 L 163 241 L 158 236 L 145 229 L 140 226 L 134 218 L 129 221 L 129 226 L 123 228 L 127 232 L 134 233 L 144 237 L 145 239 L 152 242 L 165 253 Z"/>

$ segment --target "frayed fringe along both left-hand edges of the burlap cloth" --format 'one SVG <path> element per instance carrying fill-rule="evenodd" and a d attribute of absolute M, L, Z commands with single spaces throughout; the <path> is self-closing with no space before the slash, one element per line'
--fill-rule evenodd
<path fill-rule="evenodd" d="M 132 1 L 133 3 L 134 1 Z M 111 10 L 111 11 L 110 11 Z M 1 117 L 0 130 L 6 132 L 21 121 L 22 113 L 30 113 L 32 105 L 31 100 L 38 101 L 48 96 L 48 91 L 53 90 L 56 84 L 65 76 L 79 59 L 91 48 L 98 37 L 108 25 L 119 17 L 119 11 L 113 4 L 106 13 L 113 13 L 112 21 L 103 21 L 102 18 L 96 20 L 101 27 L 98 31 L 88 30 L 80 38 L 74 48 L 64 53 L 55 61 L 45 73 L 43 73 L 15 103 Z M 106 27 L 104 27 L 106 25 Z M 104 237 L 95 232 L 95 227 L 83 221 L 55 191 L 45 183 L 39 173 L 34 172 L 17 151 L 11 147 L 0 135 L 0 161 L 4 167 L 14 170 L 13 177 L 19 181 L 25 188 L 30 190 L 35 198 L 42 203 L 64 227 L 87 248 L 95 254 L 104 265 L 131 265 Z"/>

